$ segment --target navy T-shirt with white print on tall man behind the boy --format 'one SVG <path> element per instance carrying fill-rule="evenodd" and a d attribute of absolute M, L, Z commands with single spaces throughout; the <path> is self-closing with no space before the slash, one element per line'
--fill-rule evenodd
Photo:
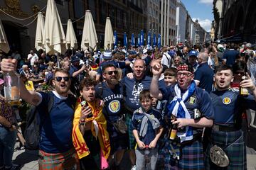
<path fill-rule="evenodd" d="M 122 84 L 125 86 L 124 96 L 125 96 L 125 105 L 130 108 L 130 110 L 135 111 L 140 107 L 139 104 L 139 93 L 142 90 L 149 90 L 152 77 L 145 76 L 143 79 L 136 80 L 135 78 L 129 79 L 124 77 L 122 79 Z M 162 94 L 166 92 L 166 85 L 164 79 L 159 81 L 159 89 Z"/>

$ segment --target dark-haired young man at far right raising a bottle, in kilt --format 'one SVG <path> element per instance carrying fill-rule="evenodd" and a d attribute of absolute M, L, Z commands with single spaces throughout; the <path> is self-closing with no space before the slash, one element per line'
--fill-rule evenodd
<path fill-rule="evenodd" d="M 206 150 L 206 169 L 247 169 L 246 147 L 242 136 L 242 111 L 256 110 L 256 88 L 249 75 L 240 86 L 250 90 L 240 96 L 230 88 L 233 71 L 227 65 L 215 69 L 216 90 L 210 93 L 215 111 L 210 143 Z M 225 153 L 225 154 L 224 154 Z"/>

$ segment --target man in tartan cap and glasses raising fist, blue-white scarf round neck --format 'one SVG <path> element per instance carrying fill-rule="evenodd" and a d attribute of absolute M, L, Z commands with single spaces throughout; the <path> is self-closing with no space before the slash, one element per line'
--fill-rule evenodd
<path fill-rule="evenodd" d="M 163 94 L 158 79 L 162 66 L 155 64 L 150 93 L 155 98 L 167 100 L 164 116 L 164 145 L 160 150 L 164 169 L 204 169 L 203 128 L 213 125 L 213 103 L 210 96 L 193 81 L 193 66 L 181 64 L 177 68 L 177 84 Z M 176 135 L 172 128 L 176 125 Z M 171 132 L 171 135 L 170 135 Z"/>

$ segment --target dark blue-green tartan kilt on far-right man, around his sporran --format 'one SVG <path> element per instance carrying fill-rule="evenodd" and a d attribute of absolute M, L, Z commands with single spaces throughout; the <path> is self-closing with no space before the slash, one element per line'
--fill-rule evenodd
<path fill-rule="evenodd" d="M 210 161 L 210 147 L 217 145 L 221 147 L 230 159 L 230 164 L 225 169 L 247 169 L 246 147 L 242 130 L 234 132 L 220 132 L 212 130 L 210 143 L 206 150 L 206 169 L 223 169 Z"/>

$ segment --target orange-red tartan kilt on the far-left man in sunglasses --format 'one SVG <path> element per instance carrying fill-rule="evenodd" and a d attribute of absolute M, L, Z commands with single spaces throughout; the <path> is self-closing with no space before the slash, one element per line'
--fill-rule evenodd
<path fill-rule="evenodd" d="M 68 152 L 50 154 L 39 150 L 39 170 L 75 170 L 80 169 L 78 155 L 75 149 Z"/>

